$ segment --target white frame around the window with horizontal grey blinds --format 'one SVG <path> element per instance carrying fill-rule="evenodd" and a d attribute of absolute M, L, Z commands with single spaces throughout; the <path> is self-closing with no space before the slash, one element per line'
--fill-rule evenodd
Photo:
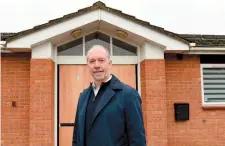
<path fill-rule="evenodd" d="M 203 68 L 225 68 L 225 64 L 200 64 L 201 68 L 201 94 L 202 94 L 202 105 L 203 106 L 225 106 L 224 102 L 211 102 L 207 103 L 205 102 L 204 98 L 204 82 L 203 82 Z"/>

